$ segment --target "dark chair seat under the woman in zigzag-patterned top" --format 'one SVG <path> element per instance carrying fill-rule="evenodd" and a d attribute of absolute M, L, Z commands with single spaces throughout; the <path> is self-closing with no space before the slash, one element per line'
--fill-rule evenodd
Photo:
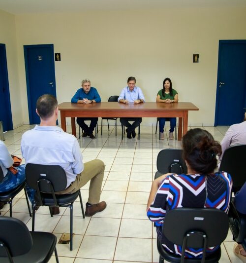
<path fill-rule="evenodd" d="M 158 249 L 159 254 L 164 256 L 165 261 L 173 262 L 173 263 L 181 262 L 181 256 L 166 251 L 158 238 L 157 238 L 157 249 Z M 206 256 L 205 262 L 206 263 L 217 263 L 220 259 L 220 256 L 221 256 L 221 249 L 219 247 L 214 253 L 210 253 Z M 201 259 L 196 259 L 196 258 L 185 259 L 184 263 L 201 263 Z"/>

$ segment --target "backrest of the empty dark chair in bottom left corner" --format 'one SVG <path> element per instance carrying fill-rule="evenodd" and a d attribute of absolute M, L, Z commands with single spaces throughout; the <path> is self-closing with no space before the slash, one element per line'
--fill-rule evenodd
<path fill-rule="evenodd" d="M 31 250 L 32 239 L 28 227 L 12 217 L 0 217 L 0 258 L 24 255 Z M 1 261 L 1 260 L 0 260 Z"/>

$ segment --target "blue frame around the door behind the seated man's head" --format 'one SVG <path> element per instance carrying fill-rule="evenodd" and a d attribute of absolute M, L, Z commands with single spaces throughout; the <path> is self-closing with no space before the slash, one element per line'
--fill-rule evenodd
<path fill-rule="evenodd" d="M 31 113 L 31 87 L 29 81 L 29 68 L 28 68 L 28 49 L 35 47 L 51 47 L 53 58 L 54 58 L 54 44 L 37 44 L 37 45 L 24 45 L 24 59 L 25 59 L 25 69 L 26 69 L 26 82 L 27 82 L 27 96 L 28 96 L 28 113 L 29 113 L 29 122 L 33 123 L 33 116 Z M 52 67 L 55 69 L 55 61 L 52 59 Z"/>

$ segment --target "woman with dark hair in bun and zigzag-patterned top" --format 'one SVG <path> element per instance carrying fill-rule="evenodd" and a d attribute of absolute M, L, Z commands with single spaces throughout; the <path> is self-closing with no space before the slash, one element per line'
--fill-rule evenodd
<path fill-rule="evenodd" d="M 183 155 L 187 174 L 165 174 L 155 179 L 147 205 L 147 215 L 155 222 L 157 237 L 163 247 L 182 255 L 182 247 L 171 243 L 162 235 L 165 215 L 177 207 L 217 208 L 228 212 L 232 180 L 225 172 L 214 173 L 216 155 L 221 146 L 213 136 L 203 129 L 191 129 L 183 137 Z M 214 252 L 217 247 L 207 250 Z M 185 257 L 201 257 L 202 249 L 186 248 Z"/>

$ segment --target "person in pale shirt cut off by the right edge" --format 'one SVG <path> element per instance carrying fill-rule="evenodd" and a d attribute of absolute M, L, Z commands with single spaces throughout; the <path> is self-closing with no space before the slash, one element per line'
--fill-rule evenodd
<path fill-rule="evenodd" d="M 224 151 L 229 146 L 246 144 L 246 113 L 243 122 L 233 124 L 229 127 L 220 144 L 222 148 L 222 154 L 220 156 L 220 159 L 222 159 Z"/>

